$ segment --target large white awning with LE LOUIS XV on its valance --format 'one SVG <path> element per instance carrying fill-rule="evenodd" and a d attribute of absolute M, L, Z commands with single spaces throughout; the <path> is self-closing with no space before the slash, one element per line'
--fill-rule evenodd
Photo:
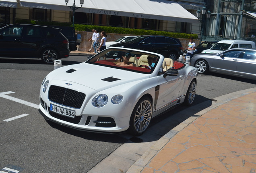
<path fill-rule="evenodd" d="M 72 0 L 68 5 L 73 5 Z M 20 0 L 20 5 L 30 8 L 71 11 L 64 0 Z M 81 6 L 76 0 L 76 6 Z M 178 22 L 198 22 L 196 16 L 177 2 L 169 0 L 85 0 L 77 12 L 128 16 Z"/>

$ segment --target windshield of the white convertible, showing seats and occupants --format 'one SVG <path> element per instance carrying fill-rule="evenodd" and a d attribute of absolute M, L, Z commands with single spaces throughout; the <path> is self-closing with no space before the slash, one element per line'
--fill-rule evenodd
<path fill-rule="evenodd" d="M 92 56 L 85 63 L 150 74 L 155 70 L 159 58 L 155 54 L 140 51 L 107 48 Z"/>

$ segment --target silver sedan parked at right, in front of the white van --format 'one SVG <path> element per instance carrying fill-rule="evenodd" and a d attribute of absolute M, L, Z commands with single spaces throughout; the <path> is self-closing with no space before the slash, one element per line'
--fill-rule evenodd
<path fill-rule="evenodd" d="M 256 80 L 256 49 L 232 48 L 219 54 L 196 54 L 190 65 L 201 74 L 211 71 Z"/>

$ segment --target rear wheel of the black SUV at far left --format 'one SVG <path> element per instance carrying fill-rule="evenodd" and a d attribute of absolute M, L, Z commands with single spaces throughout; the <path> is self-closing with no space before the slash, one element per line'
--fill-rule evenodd
<path fill-rule="evenodd" d="M 53 48 L 45 48 L 41 52 L 41 60 L 45 64 L 54 64 L 54 60 L 59 58 L 58 52 Z"/>

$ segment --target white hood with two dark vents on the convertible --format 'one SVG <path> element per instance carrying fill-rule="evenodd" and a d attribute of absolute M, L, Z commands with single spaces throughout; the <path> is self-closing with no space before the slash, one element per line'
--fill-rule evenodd
<path fill-rule="evenodd" d="M 81 63 L 64 66 L 52 71 L 49 77 L 52 80 L 62 80 L 70 84 L 77 83 L 97 92 L 111 87 L 116 87 L 129 82 L 149 78 L 149 74 L 141 74 L 117 68 Z M 56 81 L 55 81 L 56 82 Z"/>

